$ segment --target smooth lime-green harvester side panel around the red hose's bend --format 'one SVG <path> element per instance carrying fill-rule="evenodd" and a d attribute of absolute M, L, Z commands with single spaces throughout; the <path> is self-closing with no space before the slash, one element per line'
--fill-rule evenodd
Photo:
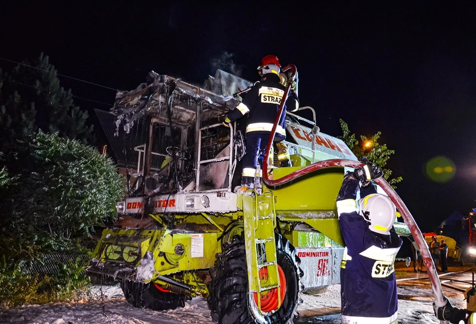
<path fill-rule="evenodd" d="M 273 179 L 279 179 L 300 167 L 276 168 Z M 336 211 L 337 194 L 342 186 L 344 168 L 326 168 L 314 171 L 292 182 L 274 188 L 276 212 Z"/>

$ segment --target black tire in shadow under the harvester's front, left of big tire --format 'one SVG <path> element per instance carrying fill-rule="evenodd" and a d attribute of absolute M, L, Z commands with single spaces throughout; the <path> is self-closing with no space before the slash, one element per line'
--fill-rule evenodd
<path fill-rule="evenodd" d="M 139 308 L 175 309 L 184 307 L 185 300 L 192 299 L 187 295 L 161 291 L 153 283 L 124 279 L 121 282 L 121 288 L 125 299 L 134 307 Z"/>

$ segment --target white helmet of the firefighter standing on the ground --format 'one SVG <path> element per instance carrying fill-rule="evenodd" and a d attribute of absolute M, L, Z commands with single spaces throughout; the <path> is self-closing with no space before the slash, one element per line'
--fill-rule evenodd
<path fill-rule="evenodd" d="M 359 199 L 360 215 L 370 223 L 369 229 L 375 233 L 390 234 L 395 223 L 396 208 L 390 198 L 381 194 L 371 194 Z"/>

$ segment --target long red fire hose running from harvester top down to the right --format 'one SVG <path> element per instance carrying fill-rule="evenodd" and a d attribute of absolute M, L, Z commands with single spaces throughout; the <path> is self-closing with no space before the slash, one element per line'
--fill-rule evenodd
<path fill-rule="evenodd" d="M 276 119 L 274 120 L 274 125 L 271 130 L 271 135 L 269 136 L 268 143 L 266 145 L 266 151 L 265 151 L 265 156 L 263 160 L 263 181 L 268 187 L 275 187 L 275 186 L 280 186 L 283 185 L 287 182 L 290 182 L 292 180 L 295 180 L 301 176 L 304 176 L 308 173 L 311 173 L 316 170 L 320 169 L 325 169 L 329 167 L 349 167 L 349 168 L 358 168 L 360 166 L 363 166 L 362 163 L 359 161 L 354 161 L 354 160 L 347 160 L 347 159 L 330 159 L 330 160 L 324 160 L 320 161 L 314 164 L 311 164 L 309 166 L 306 166 L 302 169 L 296 170 L 292 173 L 290 173 L 287 176 L 284 176 L 279 179 L 269 179 L 268 173 L 266 170 L 268 170 L 268 156 L 269 156 L 269 151 L 271 149 L 271 145 L 273 144 L 274 140 L 274 134 L 276 132 L 276 126 L 279 123 L 279 120 L 281 118 L 282 111 L 284 109 L 284 103 L 286 102 L 286 99 L 288 97 L 289 89 L 291 87 L 291 83 L 297 73 L 297 69 L 293 64 L 289 64 L 283 68 L 283 72 L 291 70 L 291 77 L 289 78 L 289 82 L 286 86 L 286 90 L 284 91 L 284 95 L 281 99 L 281 103 L 279 104 L 279 109 L 276 115 Z M 315 140 L 315 139 L 313 139 Z M 420 229 L 418 228 L 418 225 L 415 222 L 415 219 L 411 215 L 410 211 L 408 208 L 405 206 L 401 198 L 397 195 L 395 190 L 383 179 L 383 177 L 380 177 L 375 180 L 377 185 L 379 185 L 384 192 L 388 195 L 388 197 L 392 200 L 392 202 L 395 204 L 397 207 L 398 211 L 402 215 L 403 219 L 405 220 L 405 223 L 407 224 L 408 228 L 410 229 L 410 232 L 413 236 L 413 238 L 416 241 L 416 244 L 418 245 L 418 248 L 420 249 L 421 256 L 423 258 L 423 262 L 425 263 L 426 271 L 428 273 L 428 277 L 430 279 L 431 283 L 431 288 L 433 290 L 433 295 L 435 298 L 435 304 L 438 307 L 442 307 L 445 305 L 445 300 L 444 300 L 444 295 L 443 295 L 443 290 L 441 288 L 441 282 L 439 281 L 438 278 L 438 273 L 436 272 L 436 267 L 433 262 L 433 259 L 431 258 L 430 251 L 428 249 L 428 244 L 426 244 L 426 240 L 423 237 L 423 234 L 421 233 Z M 441 324 L 447 324 L 447 321 L 441 320 Z"/>

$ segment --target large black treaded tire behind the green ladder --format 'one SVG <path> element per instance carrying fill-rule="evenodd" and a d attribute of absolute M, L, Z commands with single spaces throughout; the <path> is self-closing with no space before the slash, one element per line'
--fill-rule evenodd
<path fill-rule="evenodd" d="M 248 291 L 248 270 L 243 236 L 225 244 L 210 269 L 208 305 L 213 320 L 218 324 L 292 323 L 298 316 L 297 305 L 302 290 L 300 260 L 289 241 L 276 234 L 277 263 L 284 275 L 286 290 L 281 306 L 270 315 L 258 311 L 253 295 Z M 263 305 L 263 303 L 262 303 Z M 277 303 L 276 303 L 277 305 Z"/>

